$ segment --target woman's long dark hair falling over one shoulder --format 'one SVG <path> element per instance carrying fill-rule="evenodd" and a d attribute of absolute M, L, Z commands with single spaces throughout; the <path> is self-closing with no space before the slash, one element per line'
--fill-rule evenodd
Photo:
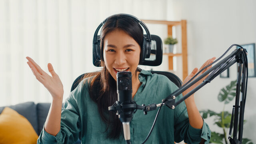
<path fill-rule="evenodd" d="M 118 116 L 114 112 L 108 111 L 108 106 L 111 106 L 116 102 L 116 80 L 108 72 L 104 59 L 103 48 L 105 36 L 114 30 L 123 30 L 130 35 L 142 48 L 143 42 L 143 30 L 140 24 L 130 17 L 117 15 L 108 18 L 106 23 L 102 26 L 100 34 L 100 58 L 102 70 L 96 73 L 96 76 L 92 78 L 90 83 L 90 98 L 96 102 L 100 117 L 107 124 L 105 132 L 107 132 L 107 138 L 116 139 L 120 137 L 122 133 L 122 123 L 118 119 Z M 136 70 L 137 71 L 137 70 Z M 94 73 L 95 74 L 95 73 Z M 88 77 L 88 76 L 85 76 Z M 108 130 L 109 129 L 109 130 Z"/>

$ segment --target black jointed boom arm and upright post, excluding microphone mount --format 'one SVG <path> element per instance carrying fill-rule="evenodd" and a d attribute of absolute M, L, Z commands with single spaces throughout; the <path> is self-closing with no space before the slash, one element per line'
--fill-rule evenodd
<path fill-rule="evenodd" d="M 234 44 L 236 45 L 236 44 Z M 232 46 L 234 46 L 232 45 Z M 231 46 L 231 47 L 232 47 Z M 236 45 L 239 46 L 239 45 Z M 230 47 L 230 48 L 231 48 Z M 241 47 L 241 46 L 239 46 Z M 220 73 L 222 73 L 224 70 L 232 66 L 233 64 L 238 63 L 238 72 L 237 72 L 237 82 L 236 82 L 236 102 L 233 106 L 232 111 L 232 118 L 230 122 L 230 131 L 228 135 L 228 139 L 231 144 L 242 144 L 242 134 L 243 134 L 243 124 L 244 124 L 244 107 L 245 107 L 245 100 L 246 100 L 246 91 L 247 91 L 247 80 L 248 80 L 248 64 L 247 64 L 247 52 L 244 48 L 239 48 L 234 50 L 229 56 L 221 60 L 219 63 L 217 63 L 215 66 L 212 66 L 209 70 L 204 72 L 201 76 L 193 80 L 192 82 L 188 83 L 186 86 L 179 88 L 170 96 L 168 96 L 164 101 L 164 105 L 168 106 L 171 109 L 174 109 L 175 106 L 183 102 L 186 98 L 188 98 L 190 95 L 194 94 L 197 90 L 202 88 L 207 83 L 211 82 L 216 76 L 218 76 Z M 209 74 L 212 72 L 211 74 Z M 175 97 L 187 90 L 190 86 L 198 82 L 200 79 L 204 78 L 209 74 L 209 76 L 196 88 L 188 92 L 183 98 L 175 102 Z M 242 74 L 242 75 L 241 75 Z M 241 80 L 242 79 L 242 80 Z M 240 98 L 240 86 L 241 86 L 241 100 L 239 103 Z M 239 118 L 238 118 L 239 116 Z M 233 122 L 234 120 L 234 122 Z M 239 123 L 238 123 L 239 120 Z M 234 124 L 233 129 L 233 138 L 232 136 L 232 126 Z M 238 125 L 239 124 L 239 125 Z M 239 126 L 239 128 L 238 128 Z M 238 139 L 237 139 L 237 132 L 238 132 Z"/>

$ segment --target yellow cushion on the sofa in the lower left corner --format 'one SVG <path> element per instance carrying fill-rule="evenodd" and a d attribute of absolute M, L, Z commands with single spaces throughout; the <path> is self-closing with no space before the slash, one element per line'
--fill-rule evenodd
<path fill-rule="evenodd" d="M 35 144 L 38 135 L 30 122 L 11 108 L 0 114 L 1 144 Z"/>

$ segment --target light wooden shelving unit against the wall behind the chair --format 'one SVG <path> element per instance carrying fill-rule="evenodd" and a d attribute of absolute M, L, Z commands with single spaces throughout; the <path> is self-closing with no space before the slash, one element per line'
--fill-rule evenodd
<path fill-rule="evenodd" d="M 172 36 L 172 27 L 181 25 L 181 39 L 182 39 L 182 52 L 178 54 L 167 53 L 164 55 L 168 56 L 169 70 L 173 70 L 173 57 L 182 57 L 182 68 L 183 68 L 183 80 L 188 76 L 188 51 L 187 51 L 187 21 L 164 21 L 164 20 L 142 20 L 144 23 L 150 24 L 165 24 L 167 25 L 168 36 Z"/>

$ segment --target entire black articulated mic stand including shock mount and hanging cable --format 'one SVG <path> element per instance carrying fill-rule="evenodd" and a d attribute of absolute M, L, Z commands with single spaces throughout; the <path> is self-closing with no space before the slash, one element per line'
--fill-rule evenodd
<path fill-rule="evenodd" d="M 218 62 L 216 65 L 212 66 L 209 70 L 204 72 L 202 75 L 198 76 L 195 80 L 190 80 L 187 84 L 180 87 L 178 90 L 170 94 L 166 99 L 162 100 L 162 103 L 160 104 L 150 104 L 148 106 L 142 105 L 139 106 L 136 104 L 136 102 L 132 101 L 130 104 L 124 104 L 116 101 L 116 103 L 113 106 L 110 106 L 108 110 L 122 112 L 124 109 L 132 109 L 134 112 L 136 112 L 137 109 L 143 110 L 144 114 L 147 114 L 148 111 L 156 110 L 157 107 L 162 107 L 162 105 L 166 105 L 171 109 L 174 109 L 178 104 L 183 102 L 186 98 L 194 94 L 197 90 L 202 88 L 207 83 L 211 82 L 216 76 L 224 72 L 226 69 L 228 69 L 230 66 L 232 66 L 235 63 L 238 63 L 238 72 L 237 72 L 237 82 L 236 82 L 236 102 L 233 106 L 232 111 L 232 118 L 230 122 L 230 131 L 228 139 L 231 144 L 242 144 L 242 134 L 243 134 L 243 124 L 244 124 L 244 107 L 245 107 L 245 101 L 246 101 L 246 92 L 247 92 L 247 80 L 248 80 L 248 61 L 247 61 L 247 51 L 246 49 L 242 48 L 242 46 L 233 44 L 232 46 L 238 46 L 240 48 L 234 50 L 230 55 L 228 55 L 226 58 Z M 230 46 L 230 48 L 232 48 Z M 230 49 L 229 48 L 229 49 Z M 228 50 L 229 50 L 228 49 Z M 219 58 L 220 59 L 220 58 Z M 217 60 L 216 60 L 217 61 Z M 210 64 L 211 65 L 211 64 Z M 208 66 L 210 66 L 208 65 Z M 206 67 L 208 67 L 206 66 Z M 205 67 L 205 68 L 206 68 Z M 209 75 L 208 75 L 209 74 Z M 185 96 L 183 96 L 180 100 L 175 102 L 176 96 L 182 94 L 185 90 L 190 88 L 192 85 L 194 85 L 196 82 L 204 78 L 205 76 L 208 77 L 199 84 L 196 88 L 188 92 Z M 241 87 L 241 91 L 240 91 Z M 241 93 L 241 96 L 240 96 Z M 241 100 L 240 100 L 241 97 Z M 160 109 L 159 109 L 160 110 Z M 159 112 L 158 110 L 158 112 Z M 157 114 L 158 116 L 158 114 Z M 156 116 L 156 118 L 157 118 Z M 156 121 L 156 119 L 155 119 Z M 238 122 L 239 121 L 239 122 Z M 155 122 L 154 122 L 155 123 Z M 233 138 L 232 136 L 232 127 L 233 128 Z M 238 128 L 239 126 L 239 128 Z M 154 127 L 154 124 L 152 128 Z M 151 130 L 152 130 L 151 128 Z M 237 138 L 237 132 L 238 132 L 238 138 Z M 151 131 L 150 131 L 151 133 Z M 150 136 L 150 133 L 148 134 L 148 137 Z M 148 139 L 146 138 L 146 140 Z M 144 142 L 146 142 L 146 140 Z M 144 143 L 143 142 L 143 143 Z"/>

